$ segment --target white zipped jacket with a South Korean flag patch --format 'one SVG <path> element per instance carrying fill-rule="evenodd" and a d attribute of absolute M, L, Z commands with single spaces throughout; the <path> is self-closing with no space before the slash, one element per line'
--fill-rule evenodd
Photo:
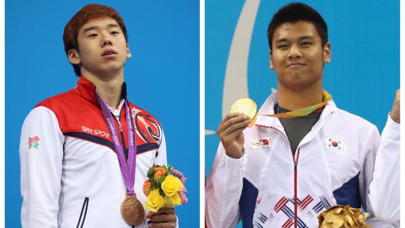
<path fill-rule="evenodd" d="M 277 100 L 276 92 L 259 113 L 274 113 Z M 244 227 L 312 228 L 338 203 L 361 205 L 373 227 L 393 226 L 374 222 L 368 197 L 381 140 L 371 123 L 330 100 L 295 155 L 277 118 L 258 116 L 244 135 L 240 159 L 219 145 L 205 191 L 209 228 L 235 227 L 240 219 Z M 379 186 L 380 194 L 391 187 Z"/>

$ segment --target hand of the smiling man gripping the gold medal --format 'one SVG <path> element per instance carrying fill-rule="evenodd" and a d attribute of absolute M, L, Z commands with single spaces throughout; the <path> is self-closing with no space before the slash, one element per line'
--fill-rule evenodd
<path fill-rule="evenodd" d="M 242 157 L 245 142 L 242 131 L 250 122 L 250 117 L 242 113 L 228 113 L 218 126 L 217 134 L 229 157 L 234 159 Z"/>

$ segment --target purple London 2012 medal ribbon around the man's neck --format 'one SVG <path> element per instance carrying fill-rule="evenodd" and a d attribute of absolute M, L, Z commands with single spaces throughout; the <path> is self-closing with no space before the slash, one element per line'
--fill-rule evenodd
<path fill-rule="evenodd" d="M 125 99 L 125 113 L 127 117 L 127 132 L 128 132 L 128 163 L 125 160 L 124 148 L 119 141 L 118 132 L 114 125 L 111 111 L 108 108 L 108 105 L 96 94 L 98 103 L 101 106 L 103 111 L 103 116 L 105 123 L 108 126 L 108 130 L 111 134 L 111 139 L 115 146 L 115 151 L 118 156 L 119 167 L 121 168 L 121 173 L 123 174 L 124 181 L 127 186 L 128 195 L 136 195 L 134 191 L 134 182 L 135 182 L 135 168 L 136 168 L 136 139 L 135 139 L 135 129 L 134 123 L 131 118 L 130 107 L 128 100 Z M 123 132 L 124 133 L 124 132 Z"/>

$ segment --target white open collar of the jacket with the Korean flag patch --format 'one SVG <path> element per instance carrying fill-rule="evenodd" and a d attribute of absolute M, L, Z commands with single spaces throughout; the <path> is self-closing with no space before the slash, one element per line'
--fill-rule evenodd
<path fill-rule="evenodd" d="M 278 91 L 272 93 L 260 107 L 258 113 L 271 115 L 274 114 L 274 105 L 278 103 Z M 337 111 L 337 106 L 333 99 L 330 99 L 328 103 L 323 108 L 322 113 L 319 117 L 319 120 L 324 120 L 330 113 Z M 262 126 L 279 126 L 282 127 L 278 118 L 275 117 L 266 117 L 266 116 L 257 116 L 255 125 L 262 125 Z"/>

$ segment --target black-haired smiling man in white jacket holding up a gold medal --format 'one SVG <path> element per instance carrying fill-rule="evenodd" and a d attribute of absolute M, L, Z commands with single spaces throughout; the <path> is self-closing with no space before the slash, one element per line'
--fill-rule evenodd
<path fill-rule="evenodd" d="M 322 88 L 323 66 L 331 61 L 325 21 L 307 5 L 287 5 L 273 16 L 268 41 L 278 91 L 258 113 L 273 116 L 257 116 L 247 128 L 248 116 L 229 113 L 219 125 L 207 226 L 242 220 L 244 227 L 312 228 L 320 212 L 337 204 L 362 207 L 373 218 L 368 192 L 380 135 Z M 393 226 L 373 219 L 374 227 Z"/>

